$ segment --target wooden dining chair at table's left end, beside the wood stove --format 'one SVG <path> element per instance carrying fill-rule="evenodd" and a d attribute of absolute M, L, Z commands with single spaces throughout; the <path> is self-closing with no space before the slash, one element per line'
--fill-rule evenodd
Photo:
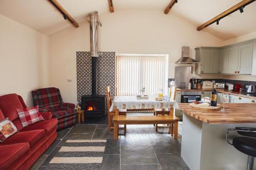
<path fill-rule="evenodd" d="M 109 132 L 111 129 L 114 128 L 113 124 L 113 117 L 115 116 L 115 110 L 110 111 L 112 105 L 111 93 L 110 93 L 110 86 L 106 86 L 106 104 L 108 106 L 108 130 Z M 126 109 L 119 109 L 119 115 L 126 116 Z M 121 129 L 121 128 L 120 128 Z M 124 133 L 126 132 L 126 125 L 124 125 Z"/>

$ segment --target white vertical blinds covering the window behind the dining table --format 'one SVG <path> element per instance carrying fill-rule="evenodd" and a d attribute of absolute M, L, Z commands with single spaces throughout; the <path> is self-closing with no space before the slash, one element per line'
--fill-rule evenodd
<path fill-rule="evenodd" d="M 156 95 L 158 90 L 167 89 L 166 56 L 117 55 L 116 90 L 117 95 Z"/>

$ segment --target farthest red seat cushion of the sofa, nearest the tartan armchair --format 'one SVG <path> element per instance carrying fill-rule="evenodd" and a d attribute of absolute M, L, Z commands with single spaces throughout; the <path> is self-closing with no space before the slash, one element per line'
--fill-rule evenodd
<path fill-rule="evenodd" d="M 52 132 L 53 130 L 56 131 L 56 126 L 58 124 L 57 118 L 53 118 L 50 120 L 45 120 L 43 122 L 38 122 L 33 125 L 27 126 L 21 130 L 21 132 L 24 131 L 31 131 L 31 130 L 37 130 L 37 129 L 44 129 L 46 133 Z"/>

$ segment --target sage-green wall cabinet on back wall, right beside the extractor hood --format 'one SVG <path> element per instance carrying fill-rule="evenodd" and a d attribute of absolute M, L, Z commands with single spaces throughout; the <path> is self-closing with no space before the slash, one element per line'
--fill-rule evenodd
<path fill-rule="evenodd" d="M 220 50 L 216 47 L 198 47 L 196 48 L 197 74 L 219 73 L 220 72 Z"/>

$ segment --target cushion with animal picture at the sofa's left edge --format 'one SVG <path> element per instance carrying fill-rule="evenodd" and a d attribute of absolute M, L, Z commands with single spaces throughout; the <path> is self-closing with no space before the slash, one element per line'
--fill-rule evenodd
<path fill-rule="evenodd" d="M 0 122 L 0 142 L 3 142 L 17 131 L 17 128 L 13 125 L 9 118 L 4 119 L 2 122 Z"/>

